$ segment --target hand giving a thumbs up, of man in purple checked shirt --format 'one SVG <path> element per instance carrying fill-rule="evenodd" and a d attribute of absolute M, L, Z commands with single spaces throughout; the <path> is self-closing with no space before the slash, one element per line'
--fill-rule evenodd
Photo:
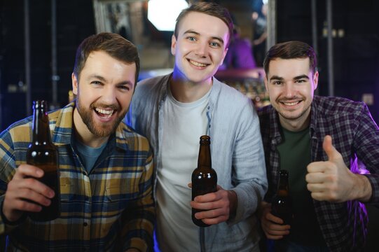
<path fill-rule="evenodd" d="M 370 200 L 371 183 L 366 176 L 353 174 L 346 167 L 342 155 L 331 142 L 331 136 L 324 138 L 322 147 L 328 155 L 328 161 L 310 163 L 307 167 L 308 174 L 305 176 L 312 198 L 329 202 Z"/>

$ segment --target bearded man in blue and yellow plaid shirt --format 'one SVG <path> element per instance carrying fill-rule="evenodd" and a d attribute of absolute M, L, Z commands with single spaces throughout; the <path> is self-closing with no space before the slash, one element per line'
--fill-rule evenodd
<path fill-rule="evenodd" d="M 146 138 L 120 123 L 139 73 L 135 45 L 118 34 L 86 38 L 76 52 L 75 102 L 48 114 L 60 163 L 60 217 L 28 211 L 54 192 L 25 164 L 32 118 L 0 134 L 0 235 L 8 251 L 152 251 L 153 158 Z"/>

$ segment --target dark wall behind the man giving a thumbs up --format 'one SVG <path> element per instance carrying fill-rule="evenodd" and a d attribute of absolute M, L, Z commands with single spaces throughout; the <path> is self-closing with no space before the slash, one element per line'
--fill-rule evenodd
<path fill-rule="evenodd" d="M 277 1 L 277 40 L 301 40 L 312 44 L 311 1 Z M 333 0 L 334 95 L 361 101 L 373 94 L 368 106 L 379 123 L 379 2 Z M 317 0 L 319 94 L 328 94 L 326 1 Z M 343 31 L 343 36 L 338 34 Z"/>

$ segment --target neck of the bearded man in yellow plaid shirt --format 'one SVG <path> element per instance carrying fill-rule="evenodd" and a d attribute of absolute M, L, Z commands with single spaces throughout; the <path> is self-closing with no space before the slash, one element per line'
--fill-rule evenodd
<path fill-rule="evenodd" d="M 80 141 L 85 146 L 90 146 L 92 148 L 97 148 L 102 146 L 106 141 L 108 141 L 109 136 L 107 137 L 97 137 L 90 130 L 88 130 L 87 125 L 83 123 L 81 116 L 78 113 L 78 110 L 74 110 L 74 129 L 78 141 Z"/>

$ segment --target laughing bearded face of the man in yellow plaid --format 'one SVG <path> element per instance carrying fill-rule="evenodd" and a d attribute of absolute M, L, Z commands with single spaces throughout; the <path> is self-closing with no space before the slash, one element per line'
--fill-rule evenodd
<path fill-rule="evenodd" d="M 88 56 L 78 79 L 72 74 L 76 131 L 85 141 L 109 137 L 125 117 L 135 86 L 136 64 L 128 64 L 94 51 Z"/>

